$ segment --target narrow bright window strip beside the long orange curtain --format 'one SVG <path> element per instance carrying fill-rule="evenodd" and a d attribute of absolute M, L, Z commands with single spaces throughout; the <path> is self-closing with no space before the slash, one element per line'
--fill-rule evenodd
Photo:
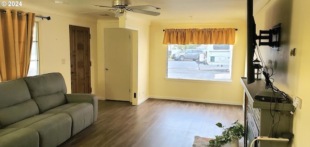
<path fill-rule="evenodd" d="M 33 41 L 31 48 L 31 59 L 27 76 L 39 75 L 39 44 L 38 44 L 38 22 L 34 22 Z"/>

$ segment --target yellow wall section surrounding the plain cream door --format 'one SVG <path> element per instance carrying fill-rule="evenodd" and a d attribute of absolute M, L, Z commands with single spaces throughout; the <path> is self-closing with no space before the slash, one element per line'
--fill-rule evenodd
<path fill-rule="evenodd" d="M 149 98 L 149 22 L 127 15 L 119 21 L 99 20 L 98 30 L 98 89 L 96 94 L 105 99 L 105 72 L 104 72 L 104 28 L 124 28 L 132 30 L 131 45 L 131 93 L 132 104 L 139 105 Z M 118 42 L 116 42 L 118 43 Z M 133 98 L 133 93 L 137 98 Z"/>

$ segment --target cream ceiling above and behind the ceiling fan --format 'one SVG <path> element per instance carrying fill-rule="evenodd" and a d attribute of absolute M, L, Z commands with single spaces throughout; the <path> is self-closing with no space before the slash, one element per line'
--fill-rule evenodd
<path fill-rule="evenodd" d="M 94 5 L 111 6 L 112 0 L 22 0 L 25 8 L 40 8 L 70 15 L 80 15 L 97 19 L 114 19 L 112 11 L 78 14 L 80 12 L 104 10 Z M 133 6 L 153 5 L 161 8 L 152 10 L 161 13 L 159 16 L 148 16 L 127 12 L 127 16 L 136 16 L 153 22 L 171 23 L 229 23 L 245 20 L 247 0 L 131 0 Z M 109 9 L 109 8 L 108 8 Z M 109 16 L 100 16 L 109 15 Z"/>

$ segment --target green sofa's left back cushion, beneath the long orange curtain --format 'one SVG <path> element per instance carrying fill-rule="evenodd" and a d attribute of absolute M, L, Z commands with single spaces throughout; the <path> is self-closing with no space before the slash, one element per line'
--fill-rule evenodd
<path fill-rule="evenodd" d="M 0 82 L 0 128 L 39 114 L 23 79 Z"/>

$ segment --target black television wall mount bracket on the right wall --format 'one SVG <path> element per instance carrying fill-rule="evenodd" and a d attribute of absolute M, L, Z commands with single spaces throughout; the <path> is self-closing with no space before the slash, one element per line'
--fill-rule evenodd
<path fill-rule="evenodd" d="M 259 40 L 259 46 L 269 46 L 273 48 L 280 47 L 280 34 L 281 34 L 281 24 L 277 24 L 272 27 L 272 29 L 264 31 L 260 30 L 260 35 L 257 36 Z M 264 41 L 264 42 L 263 42 Z"/>

